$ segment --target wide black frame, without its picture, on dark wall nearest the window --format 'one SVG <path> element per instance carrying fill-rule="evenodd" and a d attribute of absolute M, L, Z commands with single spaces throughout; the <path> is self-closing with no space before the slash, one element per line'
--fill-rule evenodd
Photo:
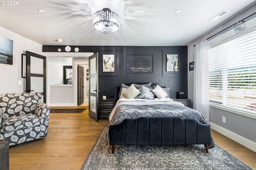
<path fill-rule="evenodd" d="M 167 54 L 178 55 L 178 71 L 166 71 L 167 70 Z M 181 55 L 179 50 L 162 50 L 162 76 L 181 76 Z"/>

